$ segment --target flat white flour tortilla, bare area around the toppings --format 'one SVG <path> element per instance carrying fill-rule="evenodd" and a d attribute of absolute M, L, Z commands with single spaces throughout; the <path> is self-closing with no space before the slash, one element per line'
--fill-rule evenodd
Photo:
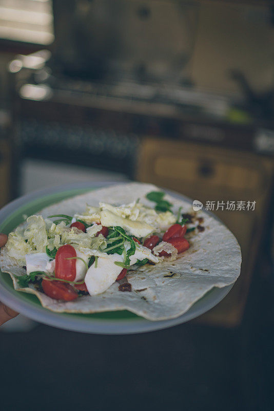
<path fill-rule="evenodd" d="M 81 213 L 86 203 L 98 206 L 99 202 L 125 204 L 140 198 L 153 207 L 146 194 L 159 191 L 152 184 L 125 183 L 91 191 L 53 204 L 37 214 L 44 218 L 53 214 Z M 166 195 L 176 213 L 182 207 L 183 213 L 193 214 L 186 201 Z M 128 272 L 127 280 L 132 291 L 119 291 L 119 283 L 95 296 L 81 296 L 71 302 L 53 300 L 34 288 L 19 288 L 13 274 L 26 274 L 26 269 L 18 267 L 9 257 L 7 249 L 1 250 L 0 268 L 11 275 L 15 290 L 35 294 L 43 307 L 55 312 L 94 313 L 103 311 L 129 310 L 147 320 L 167 320 L 184 314 L 196 301 L 213 287 L 233 284 L 240 274 L 241 250 L 234 235 L 217 219 L 203 211 L 197 212 L 203 218 L 204 231 L 195 230 L 189 234 L 190 248 L 176 260 L 145 265 Z M 123 282 L 123 280 L 122 280 Z"/>

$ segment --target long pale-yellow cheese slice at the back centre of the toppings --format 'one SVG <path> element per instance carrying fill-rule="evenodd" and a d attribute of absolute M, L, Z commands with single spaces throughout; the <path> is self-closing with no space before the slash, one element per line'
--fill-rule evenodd
<path fill-rule="evenodd" d="M 136 237 L 146 237 L 154 230 L 154 228 L 146 222 L 132 221 L 129 218 L 120 217 L 109 210 L 103 210 L 101 212 L 101 224 L 105 227 L 120 226 Z"/>

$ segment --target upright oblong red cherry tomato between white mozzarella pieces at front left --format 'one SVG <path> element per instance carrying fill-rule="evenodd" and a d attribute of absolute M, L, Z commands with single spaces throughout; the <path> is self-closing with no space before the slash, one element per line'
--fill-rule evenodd
<path fill-rule="evenodd" d="M 76 257 L 75 249 L 66 244 L 61 246 L 55 256 L 55 277 L 74 281 L 76 276 L 76 259 L 67 259 Z"/>

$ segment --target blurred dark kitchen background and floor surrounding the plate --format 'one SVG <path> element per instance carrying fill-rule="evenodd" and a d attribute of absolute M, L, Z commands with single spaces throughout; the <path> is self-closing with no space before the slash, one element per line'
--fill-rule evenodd
<path fill-rule="evenodd" d="M 0 0 L 0 89 L 1 207 L 128 179 L 256 201 L 216 212 L 242 271 L 197 320 L 120 337 L 2 327 L 3 409 L 272 410 L 274 3 Z"/>

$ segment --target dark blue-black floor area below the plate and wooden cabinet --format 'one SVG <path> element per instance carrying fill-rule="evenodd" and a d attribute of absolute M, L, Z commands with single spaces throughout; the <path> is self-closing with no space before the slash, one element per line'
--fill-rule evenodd
<path fill-rule="evenodd" d="M 137 335 L 45 325 L 0 333 L 1 409 L 274 409 L 273 279 L 253 278 L 236 329 L 193 321 Z"/>

